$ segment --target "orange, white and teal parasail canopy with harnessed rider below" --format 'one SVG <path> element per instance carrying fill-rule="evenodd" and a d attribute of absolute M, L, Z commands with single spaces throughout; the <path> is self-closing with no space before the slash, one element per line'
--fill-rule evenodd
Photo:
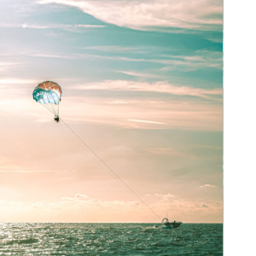
<path fill-rule="evenodd" d="M 55 121 L 59 123 L 59 108 L 61 102 L 62 90 L 59 84 L 51 81 L 45 81 L 33 91 L 33 99 L 41 103 L 51 113 L 55 114 Z"/>

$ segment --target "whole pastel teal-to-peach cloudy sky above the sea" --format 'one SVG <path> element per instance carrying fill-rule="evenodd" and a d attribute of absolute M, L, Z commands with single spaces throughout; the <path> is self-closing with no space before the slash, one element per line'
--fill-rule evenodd
<path fill-rule="evenodd" d="M 2 0 L 0 222 L 223 222 L 222 1 Z"/>

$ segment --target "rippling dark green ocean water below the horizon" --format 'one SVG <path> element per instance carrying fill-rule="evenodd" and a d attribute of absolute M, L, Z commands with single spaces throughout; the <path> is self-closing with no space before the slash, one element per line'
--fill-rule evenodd
<path fill-rule="evenodd" d="M 223 255 L 223 224 L 0 224 L 0 255 Z"/>

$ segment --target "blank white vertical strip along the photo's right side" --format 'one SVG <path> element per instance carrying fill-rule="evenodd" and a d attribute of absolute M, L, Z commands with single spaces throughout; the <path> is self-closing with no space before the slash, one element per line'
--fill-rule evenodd
<path fill-rule="evenodd" d="M 224 0 L 224 255 L 256 255 L 256 3 Z"/>

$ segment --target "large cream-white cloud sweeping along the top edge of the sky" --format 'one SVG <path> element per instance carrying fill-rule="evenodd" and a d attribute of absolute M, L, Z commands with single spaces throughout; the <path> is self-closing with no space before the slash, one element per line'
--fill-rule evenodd
<path fill-rule="evenodd" d="M 220 0 L 77 1 L 40 0 L 82 9 L 96 19 L 138 30 L 178 27 L 195 30 L 222 30 L 223 2 Z"/>

